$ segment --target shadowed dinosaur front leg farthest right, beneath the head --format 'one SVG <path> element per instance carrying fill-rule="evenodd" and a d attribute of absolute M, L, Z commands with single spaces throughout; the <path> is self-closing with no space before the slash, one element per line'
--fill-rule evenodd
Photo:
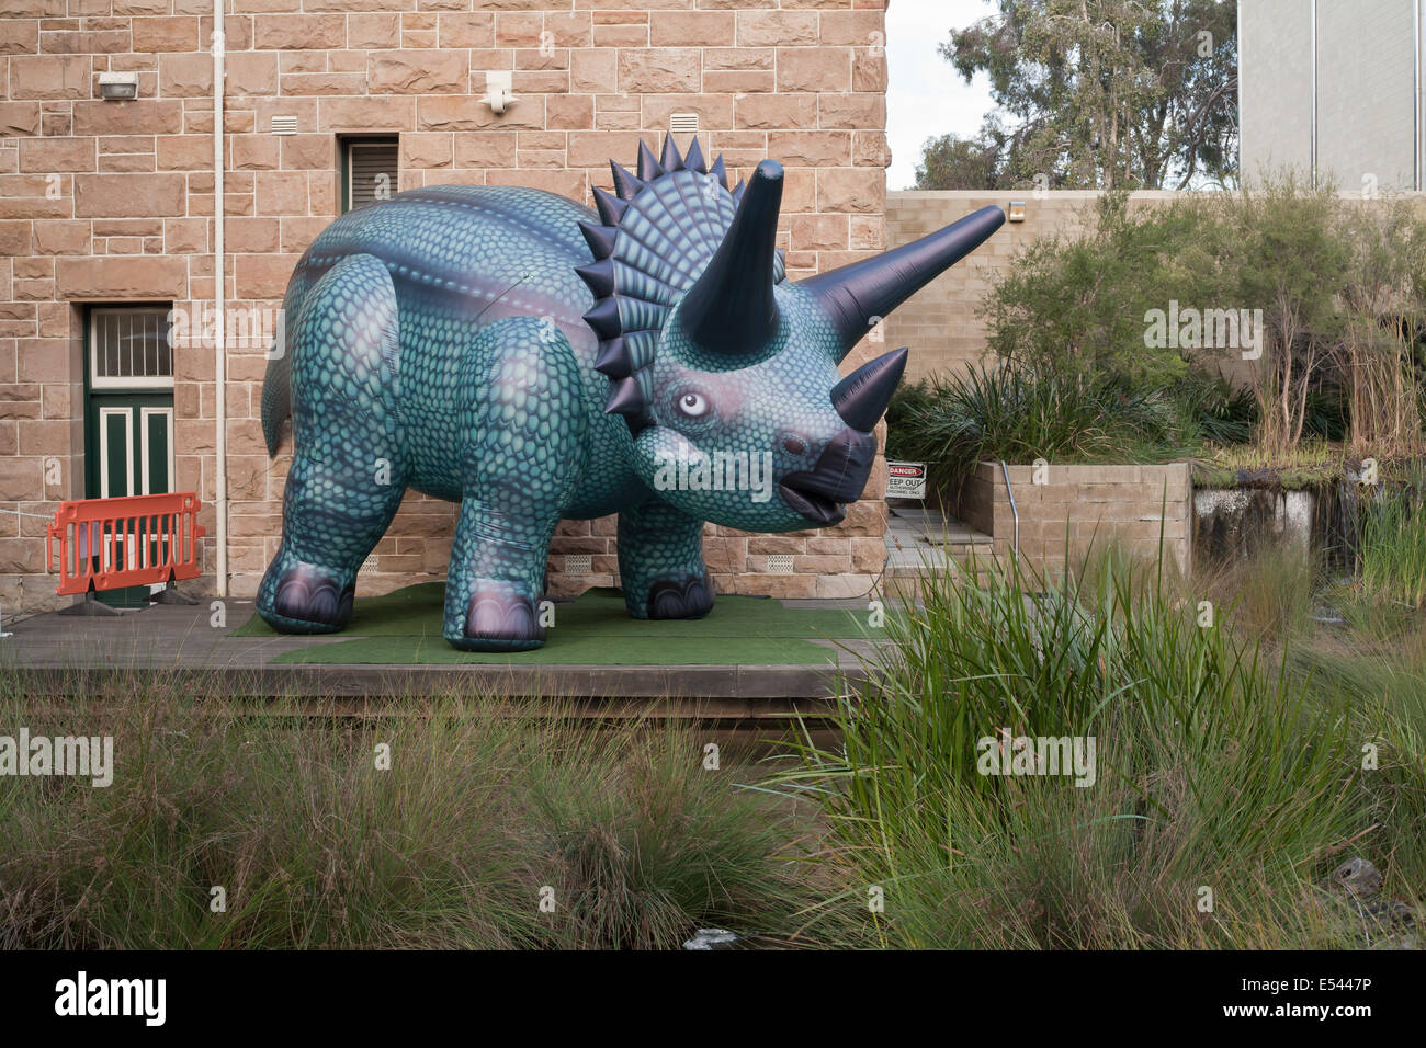
<path fill-rule="evenodd" d="M 703 522 L 650 499 L 619 515 L 619 577 L 635 619 L 702 619 L 713 610 Z"/>

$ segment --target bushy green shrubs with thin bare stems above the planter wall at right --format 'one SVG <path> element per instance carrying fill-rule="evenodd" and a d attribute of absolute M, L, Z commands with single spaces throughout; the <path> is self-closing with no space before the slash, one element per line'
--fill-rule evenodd
<path fill-rule="evenodd" d="M 1376 458 L 1420 449 L 1417 208 L 1343 200 L 1285 173 L 1251 191 L 1132 211 L 1105 194 L 1084 227 L 1031 242 L 981 304 L 1000 358 L 1079 382 L 1108 375 L 1168 389 L 1216 443 L 1242 441 L 1251 425 L 1279 455 L 1305 438 L 1349 439 Z M 1175 304 L 1181 324 L 1188 309 L 1256 311 L 1261 358 L 1246 366 L 1243 339 L 1212 345 L 1191 327 L 1156 338 L 1151 317 L 1172 317 Z M 1252 409 L 1189 374 L 1226 362 L 1248 376 Z"/>

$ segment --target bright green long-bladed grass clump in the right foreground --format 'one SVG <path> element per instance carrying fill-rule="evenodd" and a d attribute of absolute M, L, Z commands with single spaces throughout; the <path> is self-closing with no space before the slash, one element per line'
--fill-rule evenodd
<path fill-rule="evenodd" d="M 896 947 L 1336 941 L 1310 885 L 1372 804 L 1345 703 L 1171 582 L 927 572 L 840 706 L 844 746 L 803 746 L 783 777 L 826 808 L 838 905 L 880 887 Z M 1007 734 L 1092 737 L 1092 784 L 984 774 Z"/>

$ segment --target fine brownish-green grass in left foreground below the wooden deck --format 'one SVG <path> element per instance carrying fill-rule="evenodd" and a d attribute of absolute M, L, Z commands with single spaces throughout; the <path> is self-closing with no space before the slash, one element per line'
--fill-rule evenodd
<path fill-rule="evenodd" d="M 704 770 L 689 730 L 462 693 L 288 714 L 221 684 L 44 703 L 0 676 L 0 733 L 116 756 L 107 788 L 0 779 L 0 947 L 677 948 L 707 924 L 777 945 L 821 897 L 789 806 Z"/>

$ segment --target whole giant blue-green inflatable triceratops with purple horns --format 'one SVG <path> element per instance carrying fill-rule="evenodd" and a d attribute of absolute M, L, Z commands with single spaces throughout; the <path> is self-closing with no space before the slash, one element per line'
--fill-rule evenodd
<path fill-rule="evenodd" d="M 445 637 L 522 650 L 560 519 L 619 515 L 637 619 L 713 606 L 703 525 L 824 528 L 861 495 L 897 349 L 837 365 L 1004 221 L 940 232 L 810 279 L 774 248 L 783 170 L 727 188 L 722 157 L 613 167 L 589 208 L 539 190 L 432 187 L 351 211 L 292 272 L 262 431 L 294 459 L 258 613 L 347 625 L 356 570 L 408 488 L 461 503 Z M 739 478 L 742 471 L 742 478 Z M 726 482 L 724 482 L 726 481 Z"/>

